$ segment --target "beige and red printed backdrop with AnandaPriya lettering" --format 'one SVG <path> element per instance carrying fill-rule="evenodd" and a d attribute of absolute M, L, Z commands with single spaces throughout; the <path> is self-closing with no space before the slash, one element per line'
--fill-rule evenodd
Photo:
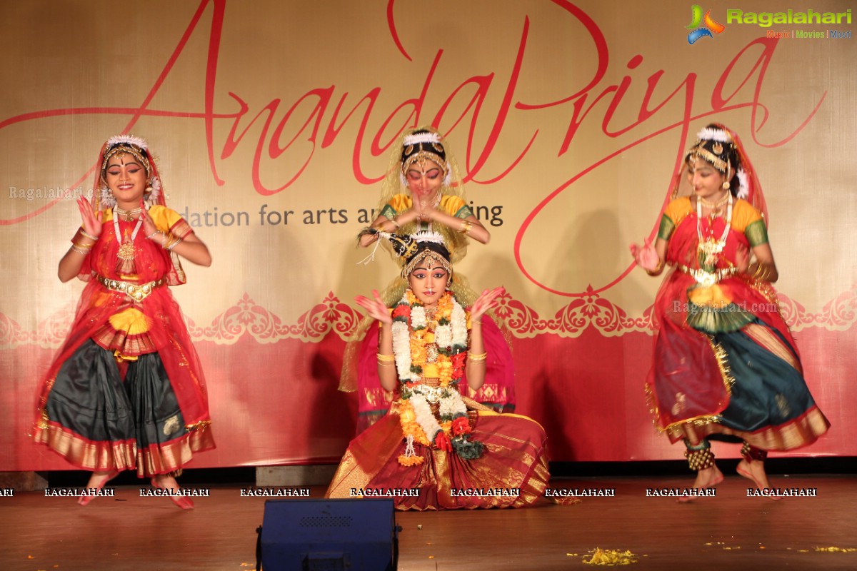
<path fill-rule="evenodd" d="M 356 396 L 337 390 L 353 300 L 396 271 L 357 265 L 355 236 L 388 148 L 420 124 L 448 134 L 492 233 L 459 269 L 506 287 L 518 412 L 553 460 L 680 458 L 644 404 L 659 279 L 627 246 L 654 233 L 710 121 L 758 169 L 782 310 L 833 425 L 794 455 L 857 455 L 850 3 L 787 7 L 838 24 L 769 27 L 729 7 L 701 5 L 723 26 L 710 33 L 680 0 L 0 3 L 0 471 L 69 467 L 27 435 L 82 288 L 56 277 L 73 199 L 123 132 L 149 141 L 168 204 L 214 256 L 173 289 L 218 442 L 191 467 L 338 461 L 355 430 Z"/>

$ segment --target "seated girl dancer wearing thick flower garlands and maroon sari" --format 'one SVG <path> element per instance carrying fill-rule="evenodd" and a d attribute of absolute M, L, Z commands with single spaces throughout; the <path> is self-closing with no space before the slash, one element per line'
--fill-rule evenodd
<path fill-rule="evenodd" d="M 380 323 L 375 369 L 394 400 L 351 442 L 327 497 L 381 491 L 396 509 L 417 510 L 535 503 L 549 478 L 542 427 L 461 393 L 485 380 L 482 319 L 502 288 L 465 310 L 448 288 L 457 276 L 440 235 L 387 236 L 406 260 L 408 287 L 392 310 L 377 291 L 357 303 Z"/>

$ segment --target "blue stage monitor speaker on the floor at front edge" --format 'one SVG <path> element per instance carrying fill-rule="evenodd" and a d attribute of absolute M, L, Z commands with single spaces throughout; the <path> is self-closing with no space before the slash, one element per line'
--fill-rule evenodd
<path fill-rule="evenodd" d="M 268 500 L 257 543 L 263 571 L 394 571 L 399 544 L 389 498 Z"/>

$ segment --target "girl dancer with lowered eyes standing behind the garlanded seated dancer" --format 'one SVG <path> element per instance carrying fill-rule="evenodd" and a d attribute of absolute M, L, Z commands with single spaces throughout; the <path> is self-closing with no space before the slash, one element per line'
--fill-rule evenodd
<path fill-rule="evenodd" d="M 363 231 L 359 235 L 363 247 L 379 245 L 375 234 L 379 230 L 400 234 L 434 231 L 443 236 L 452 264 L 456 264 L 464 258 L 470 238 L 487 244 L 491 237 L 467 203 L 458 164 L 449 151 L 449 144 L 431 127 L 409 129 L 393 146 L 378 212 L 371 225 L 372 231 Z M 374 255 L 375 251 L 370 258 Z M 401 298 L 405 287 L 405 279 L 399 277 L 381 292 L 381 299 L 392 306 Z M 452 290 L 465 305 L 476 300 L 476 292 L 460 273 L 456 275 Z M 506 337 L 490 314 L 483 323 L 491 360 L 487 364 L 484 384 L 479 390 L 471 390 L 470 396 L 497 412 L 512 412 L 515 408 L 512 353 Z M 381 419 L 391 403 L 392 395 L 381 387 L 378 380 L 375 367 L 377 347 L 377 321 L 363 319 L 345 348 L 339 384 L 340 390 L 357 390 L 358 433 Z"/>

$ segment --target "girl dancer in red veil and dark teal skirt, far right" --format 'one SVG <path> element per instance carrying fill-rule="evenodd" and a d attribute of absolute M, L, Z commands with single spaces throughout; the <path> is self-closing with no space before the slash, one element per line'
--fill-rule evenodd
<path fill-rule="evenodd" d="M 770 285 L 779 274 L 762 187 L 738 136 L 709 125 L 685 166 L 692 172 L 677 175 L 656 243 L 631 247 L 650 275 L 673 268 L 655 300 L 647 394 L 658 429 L 684 441 L 694 487 L 722 481 L 709 443 L 720 439 L 743 442 L 738 473 L 770 488 L 768 450 L 809 445 L 830 424 Z M 685 178 L 691 188 L 679 196 Z"/>

